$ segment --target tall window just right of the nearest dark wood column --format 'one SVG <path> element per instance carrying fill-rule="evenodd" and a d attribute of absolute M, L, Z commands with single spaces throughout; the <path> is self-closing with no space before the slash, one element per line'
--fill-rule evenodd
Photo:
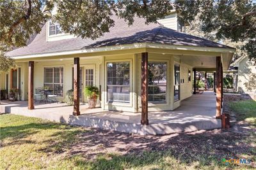
<path fill-rule="evenodd" d="M 148 101 L 166 103 L 166 62 L 148 63 Z"/>

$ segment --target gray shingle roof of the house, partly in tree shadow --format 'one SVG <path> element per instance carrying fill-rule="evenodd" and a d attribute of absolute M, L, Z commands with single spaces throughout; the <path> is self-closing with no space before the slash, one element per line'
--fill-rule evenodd
<path fill-rule="evenodd" d="M 217 48 L 231 48 L 229 46 L 214 43 L 207 39 L 191 36 L 183 32 L 168 29 L 159 24 L 145 24 L 143 18 L 135 18 L 130 27 L 117 17 L 113 17 L 115 26 L 105 33 L 104 36 L 92 40 L 71 38 L 58 41 L 46 41 L 46 24 L 42 31 L 36 35 L 28 46 L 17 48 L 8 52 L 11 57 L 19 55 L 32 55 L 38 53 L 63 52 L 69 50 L 81 50 L 102 46 L 126 45 L 132 43 L 161 43 L 166 45 L 205 46 Z"/>

